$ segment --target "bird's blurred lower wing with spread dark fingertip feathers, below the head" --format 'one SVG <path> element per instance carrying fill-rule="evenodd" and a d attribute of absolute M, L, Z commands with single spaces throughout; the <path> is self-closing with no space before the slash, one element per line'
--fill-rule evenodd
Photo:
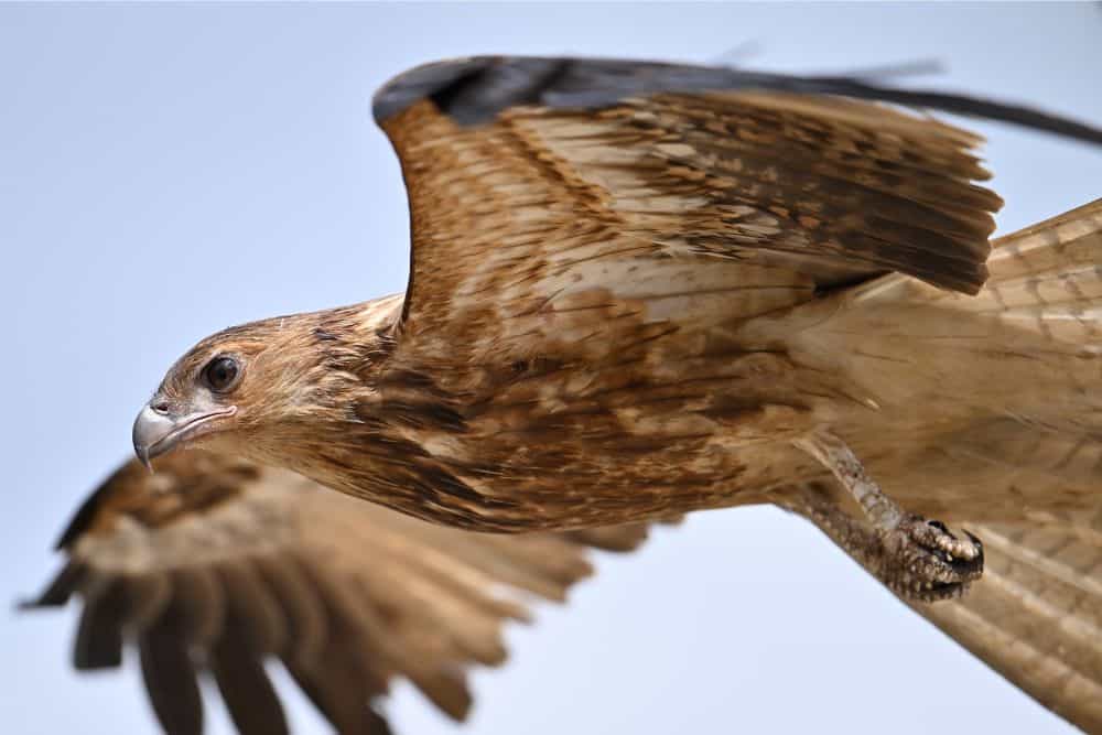
<path fill-rule="evenodd" d="M 201 452 L 131 461 L 61 541 L 67 563 L 31 606 L 84 608 L 78 669 L 140 653 L 164 729 L 198 733 L 197 674 L 214 675 L 238 729 L 287 732 L 264 671 L 278 658 L 341 733 L 388 733 L 372 702 L 396 677 L 462 718 L 464 668 L 506 658 L 527 596 L 561 601 L 591 572 L 586 544 L 629 550 L 645 527 L 493 537 L 423 521 L 298 475 Z"/>

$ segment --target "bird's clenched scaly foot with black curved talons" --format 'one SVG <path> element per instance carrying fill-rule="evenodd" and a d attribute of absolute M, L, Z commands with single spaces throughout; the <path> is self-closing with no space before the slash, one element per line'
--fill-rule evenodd
<path fill-rule="evenodd" d="M 968 531 L 959 538 L 944 523 L 907 516 L 880 531 L 877 576 L 894 592 L 934 602 L 961 596 L 983 574 L 983 543 Z"/>

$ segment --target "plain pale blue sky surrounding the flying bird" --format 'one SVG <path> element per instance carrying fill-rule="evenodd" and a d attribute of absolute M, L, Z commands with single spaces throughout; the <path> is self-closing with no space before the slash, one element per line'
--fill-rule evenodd
<path fill-rule="evenodd" d="M 372 90 L 478 53 L 845 71 L 936 58 L 927 85 L 1102 122 L 1102 10 L 985 6 L 0 6 L 0 717 L 4 732 L 154 727 L 130 659 L 68 668 L 74 609 L 17 616 L 84 495 L 199 337 L 404 287 L 404 191 Z M 1102 152 L 988 137 L 1007 231 L 1102 195 Z M 1061 733 L 803 521 L 699 515 L 605 558 L 509 634 L 462 732 Z M 299 732 L 327 732 L 287 687 Z M 208 706 L 209 732 L 228 732 Z M 457 733 L 409 688 L 398 733 Z"/>

